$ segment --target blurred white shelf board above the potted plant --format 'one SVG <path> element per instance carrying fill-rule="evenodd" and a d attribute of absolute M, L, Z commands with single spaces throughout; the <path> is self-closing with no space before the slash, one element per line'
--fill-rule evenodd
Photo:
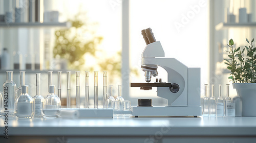
<path fill-rule="evenodd" d="M 249 22 L 249 23 L 225 23 L 220 22 L 215 29 L 217 31 L 227 28 L 256 28 L 256 22 Z"/>

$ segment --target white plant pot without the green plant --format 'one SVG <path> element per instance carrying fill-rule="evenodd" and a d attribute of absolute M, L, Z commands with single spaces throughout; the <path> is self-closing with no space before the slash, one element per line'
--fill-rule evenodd
<path fill-rule="evenodd" d="M 256 116 L 256 83 L 233 83 L 242 99 L 242 116 Z"/>

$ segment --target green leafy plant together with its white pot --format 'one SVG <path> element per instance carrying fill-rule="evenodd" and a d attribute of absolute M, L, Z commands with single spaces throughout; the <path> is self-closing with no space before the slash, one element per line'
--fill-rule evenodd
<path fill-rule="evenodd" d="M 243 49 L 233 47 L 233 40 L 228 42 L 228 59 L 224 59 L 227 69 L 231 71 L 233 88 L 242 99 L 242 116 L 256 116 L 256 47 L 246 39 L 248 46 Z"/>

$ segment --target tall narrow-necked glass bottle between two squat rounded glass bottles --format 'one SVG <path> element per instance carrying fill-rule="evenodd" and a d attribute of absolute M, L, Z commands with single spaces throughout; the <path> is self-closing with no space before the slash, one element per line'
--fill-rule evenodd
<path fill-rule="evenodd" d="M 36 96 L 34 96 L 34 117 L 44 117 L 42 109 L 44 107 L 44 97 L 41 96 L 41 74 L 36 73 Z"/>

